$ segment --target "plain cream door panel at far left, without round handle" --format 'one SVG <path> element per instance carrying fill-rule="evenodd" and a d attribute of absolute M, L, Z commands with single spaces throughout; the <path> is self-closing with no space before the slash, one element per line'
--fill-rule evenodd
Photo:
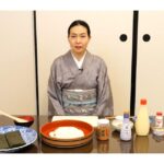
<path fill-rule="evenodd" d="M 0 110 L 36 114 L 32 11 L 0 11 Z"/>

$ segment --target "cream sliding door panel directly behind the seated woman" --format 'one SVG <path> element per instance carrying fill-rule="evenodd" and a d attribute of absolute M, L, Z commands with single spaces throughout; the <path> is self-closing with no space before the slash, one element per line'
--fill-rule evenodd
<path fill-rule="evenodd" d="M 47 81 L 54 59 L 65 54 L 69 44 L 67 30 L 77 19 L 85 20 L 92 32 L 89 50 L 101 56 L 108 68 L 115 114 L 130 108 L 132 11 L 38 11 L 38 77 L 40 114 L 47 114 Z M 127 34 L 122 43 L 120 34 Z"/>

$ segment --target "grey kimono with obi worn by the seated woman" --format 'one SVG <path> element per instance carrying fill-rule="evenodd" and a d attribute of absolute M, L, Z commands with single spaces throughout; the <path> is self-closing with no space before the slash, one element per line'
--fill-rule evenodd
<path fill-rule="evenodd" d="M 79 91 L 83 91 L 82 94 Z M 81 98 L 77 102 L 81 96 L 84 102 Z M 70 97 L 77 107 L 68 105 Z M 112 116 L 113 95 L 105 62 L 86 51 L 82 69 L 79 69 L 71 51 L 58 57 L 48 81 L 48 114 Z"/>

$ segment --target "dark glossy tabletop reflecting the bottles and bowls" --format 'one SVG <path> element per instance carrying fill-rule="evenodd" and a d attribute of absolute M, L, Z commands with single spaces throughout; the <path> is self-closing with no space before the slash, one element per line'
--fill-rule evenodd
<path fill-rule="evenodd" d="M 37 140 L 19 153 L 164 153 L 164 137 L 154 137 L 152 132 L 148 137 L 138 137 L 132 132 L 131 141 L 121 141 L 119 132 L 110 130 L 109 140 L 99 141 L 95 133 L 93 140 L 79 148 L 52 148 L 42 142 L 39 128 L 51 118 L 48 116 L 34 116 L 35 121 L 31 128 L 38 132 Z M 14 125 L 13 120 L 0 116 L 0 126 Z"/>

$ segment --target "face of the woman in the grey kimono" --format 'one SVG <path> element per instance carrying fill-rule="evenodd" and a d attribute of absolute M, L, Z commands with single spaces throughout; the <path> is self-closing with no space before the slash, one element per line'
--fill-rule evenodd
<path fill-rule="evenodd" d="M 83 55 L 90 42 L 87 30 L 82 25 L 71 27 L 68 40 L 74 55 Z"/>

